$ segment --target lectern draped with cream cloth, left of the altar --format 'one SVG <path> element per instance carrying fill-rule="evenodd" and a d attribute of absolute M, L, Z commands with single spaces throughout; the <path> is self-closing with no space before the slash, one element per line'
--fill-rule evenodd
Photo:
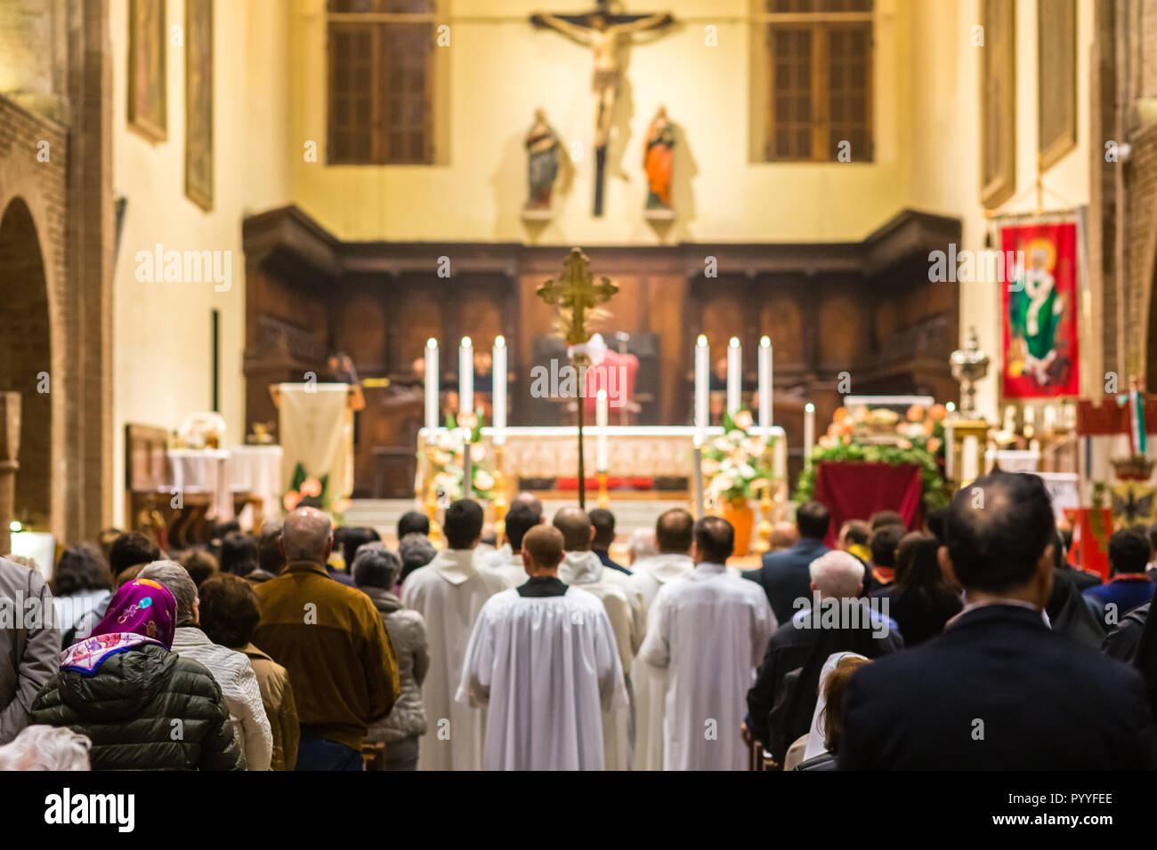
<path fill-rule="evenodd" d="M 364 407 L 356 384 L 271 384 L 278 406 L 281 481 L 288 486 L 301 464 L 305 474 L 329 475 L 330 500 L 354 487 L 354 411 Z"/>

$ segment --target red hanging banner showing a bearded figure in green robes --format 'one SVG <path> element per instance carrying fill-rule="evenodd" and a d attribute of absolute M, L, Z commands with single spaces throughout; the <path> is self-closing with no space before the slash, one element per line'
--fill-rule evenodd
<path fill-rule="evenodd" d="M 1024 224 L 1001 229 L 1001 283 L 1007 399 L 1078 396 L 1077 226 Z"/>

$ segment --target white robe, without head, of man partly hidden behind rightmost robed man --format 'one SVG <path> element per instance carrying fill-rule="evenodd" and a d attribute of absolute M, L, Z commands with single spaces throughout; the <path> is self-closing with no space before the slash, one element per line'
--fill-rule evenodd
<path fill-rule="evenodd" d="M 649 612 L 659 589 L 683 578 L 695 568 L 687 555 L 662 553 L 631 564 L 631 584 L 642 593 Z M 663 709 L 666 696 L 666 670 L 641 658 L 631 665 L 631 693 L 635 701 L 635 752 L 633 770 L 663 769 Z"/>

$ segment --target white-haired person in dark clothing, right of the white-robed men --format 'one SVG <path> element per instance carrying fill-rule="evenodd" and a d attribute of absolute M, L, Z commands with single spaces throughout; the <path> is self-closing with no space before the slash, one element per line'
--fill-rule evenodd
<path fill-rule="evenodd" d="M 776 761 L 805 736 L 816 709 L 824 661 L 833 652 L 877 658 L 904 649 L 887 600 L 863 593 L 864 566 L 847 552 L 827 552 L 808 566 L 811 598 L 793 601 L 795 614 L 767 642 L 764 663 L 747 692 L 745 734 L 762 742 Z M 877 611 L 869 603 L 882 604 Z M 789 677 L 795 672 L 796 675 Z M 772 707 L 776 711 L 772 714 Z"/>

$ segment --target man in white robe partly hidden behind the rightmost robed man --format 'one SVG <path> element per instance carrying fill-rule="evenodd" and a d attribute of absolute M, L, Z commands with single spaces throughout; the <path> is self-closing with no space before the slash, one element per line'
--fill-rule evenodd
<path fill-rule="evenodd" d="M 691 560 L 692 530 L 695 519 L 683 508 L 672 508 L 655 523 L 658 553 L 635 561 L 631 584 L 643 598 L 644 613 L 668 582 L 683 578 L 694 569 Z M 635 707 L 635 749 L 633 770 L 663 769 L 663 709 L 666 670 L 635 658 L 631 665 L 631 693 Z"/>

